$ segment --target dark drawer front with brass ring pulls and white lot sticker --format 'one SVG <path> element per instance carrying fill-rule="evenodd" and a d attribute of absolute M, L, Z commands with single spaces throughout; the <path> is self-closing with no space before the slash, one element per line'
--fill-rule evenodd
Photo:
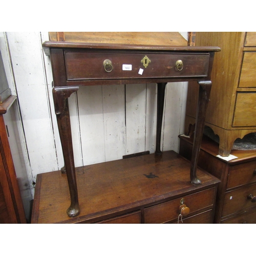
<path fill-rule="evenodd" d="M 145 68 L 141 60 L 147 56 Z M 111 65 L 105 67 L 104 60 Z M 183 68 L 176 68 L 182 60 Z M 133 79 L 164 77 L 204 77 L 208 74 L 209 54 L 154 54 L 65 52 L 67 80 Z M 179 67 L 179 69 L 181 69 Z M 112 71 L 111 71 L 112 70 Z"/>

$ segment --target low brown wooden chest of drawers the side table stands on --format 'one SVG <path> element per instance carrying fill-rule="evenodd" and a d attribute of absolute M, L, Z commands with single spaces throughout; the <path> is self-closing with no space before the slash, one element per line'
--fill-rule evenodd
<path fill-rule="evenodd" d="M 32 223 L 212 223 L 219 180 L 173 151 L 76 168 L 80 215 L 67 216 L 68 182 L 60 171 L 37 175 Z M 182 223 L 181 216 L 179 223 Z"/>

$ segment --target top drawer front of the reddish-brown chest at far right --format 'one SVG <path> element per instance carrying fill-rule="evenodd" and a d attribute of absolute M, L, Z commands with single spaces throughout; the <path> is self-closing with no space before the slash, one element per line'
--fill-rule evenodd
<path fill-rule="evenodd" d="M 227 188 L 237 187 L 256 181 L 256 161 L 230 166 Z"/>

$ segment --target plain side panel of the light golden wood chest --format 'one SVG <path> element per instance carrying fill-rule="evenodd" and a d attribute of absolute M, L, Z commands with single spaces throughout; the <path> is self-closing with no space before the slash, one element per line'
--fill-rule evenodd
<path fill-rule="evenodd" d="M 238 87 L 239 74 L 237 74 L 242 61 L 243 49 L 241 45 L 241 32 L 198 32 L 196 46 L 219 46 L 220 52 L 215 54 L 214 67 L 212 68 L 211 80 L 212 90 L 208 104 L 206 122 L 216 126 L 230 129 L 232 121 L 231 104 L 236 99 L 236 88 Z M 234 86 L 230 86 L 234 84 Z M 196 116 L 196 99 L 198 87 L 188 87 L 188 104 L 186 115 Z M 230 95 L 232 97 L 230 97 Z M 234 96 L 233 96 L 234 95 Z M 230 121 L 229 121 L 230 120 Z"/>

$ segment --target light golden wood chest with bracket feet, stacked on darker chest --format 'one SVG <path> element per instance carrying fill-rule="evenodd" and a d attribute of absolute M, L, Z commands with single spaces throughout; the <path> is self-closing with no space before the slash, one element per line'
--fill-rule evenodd
<path fill-rule="evenodd" d="M 237 138 L 256 132 L 256 32 L 197 32 L 196 46 L 221 48 L 212 68 L 205 125 L 220 138 L 228 156 Z M 189 87 L 185 129 L 195 123 L 197 88 Z"/>

